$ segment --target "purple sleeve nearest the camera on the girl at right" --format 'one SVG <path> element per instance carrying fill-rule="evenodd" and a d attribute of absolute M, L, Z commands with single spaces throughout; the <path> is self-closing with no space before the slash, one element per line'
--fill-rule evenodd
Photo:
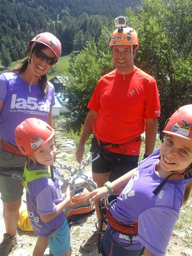
<path fill-rule="evenodd" d="M 149 252 L 156 256 L 163 256 L 178 216 L 177 211 L 166 207 L 147 209 L 139 215 L 139 242 Z"/>

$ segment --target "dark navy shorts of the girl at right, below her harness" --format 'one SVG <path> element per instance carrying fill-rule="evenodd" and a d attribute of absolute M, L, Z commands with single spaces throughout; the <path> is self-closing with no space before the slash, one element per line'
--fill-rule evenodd
<path fill-rule="evenodd" d="M 102 240 L 101 240 L 101 248 L 104 252 L 103 256 L 139 256 L 143 251 L 143 248 L 139 250 L 128 250 L 122 246 L 117 246 L 111 242 L 111 235 L 109 232 L 105 231 Z"/>

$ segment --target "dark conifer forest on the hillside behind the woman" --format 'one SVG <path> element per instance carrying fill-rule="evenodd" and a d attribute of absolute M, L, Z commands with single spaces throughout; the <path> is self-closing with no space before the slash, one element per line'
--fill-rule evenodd
<path fill-rule="evenodd" d="M 51 32 L 62 43 L 62 53 L 81 50 L 86 41 L 97 42 L 114 18 L 135 8 L 140 0 L 1 0 L 0 52 L 3 66 L 18 60 L 27 42 L 38 33 Z"/>

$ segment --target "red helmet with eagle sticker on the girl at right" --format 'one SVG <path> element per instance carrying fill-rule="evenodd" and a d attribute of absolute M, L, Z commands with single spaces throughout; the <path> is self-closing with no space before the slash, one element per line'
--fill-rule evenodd
<path fill-rule="evenodd" d="M 192 141 L 192 105 L 180 107 L 166 121 L 163 132 Z"/>

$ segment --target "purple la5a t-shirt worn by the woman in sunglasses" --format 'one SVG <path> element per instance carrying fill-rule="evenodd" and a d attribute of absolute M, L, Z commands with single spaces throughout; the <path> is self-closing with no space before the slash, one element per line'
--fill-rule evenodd
<path fill-rule="evenodd" d="M 0 101 L 3 102 L 0 113 L 0 137 L 16 145 L 14 131 L 18 124 L 29 117 L 36 117 L 47 122 L 50 107 L 55 105 L 54 86 L 48 81 L 49 92 L 42 94 L 39 85 L 23 81 L 18 74 L 3 73 L 0 75 Z"/>

